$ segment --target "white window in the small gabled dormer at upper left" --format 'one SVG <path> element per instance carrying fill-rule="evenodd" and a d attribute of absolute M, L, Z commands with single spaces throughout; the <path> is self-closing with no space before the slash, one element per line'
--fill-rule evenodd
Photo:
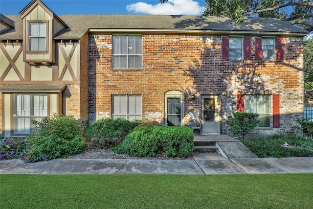
<path fill-rule="evenodd" d="M 29 23 L 29 51 L 46 51 L 46 23 Z"/>

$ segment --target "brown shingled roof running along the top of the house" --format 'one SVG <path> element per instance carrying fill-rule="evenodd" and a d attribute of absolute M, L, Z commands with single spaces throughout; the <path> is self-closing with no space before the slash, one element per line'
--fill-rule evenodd
<path fill-rule="evenodd" d="M 8 30 L 1 39 L 22 39 L 22 20 L 19 15 L 6 15 L 15 23 L 16 30 Z M 225 17 L 179 15 L 59 15 L 67 26 L 54 37 L 80 39 L 89 32 L 133 33 L 203 33 L 281 35 L 303 37 L 309 32 L 276 18 L 245 18 L 243 24 L 230 23 Z"/>

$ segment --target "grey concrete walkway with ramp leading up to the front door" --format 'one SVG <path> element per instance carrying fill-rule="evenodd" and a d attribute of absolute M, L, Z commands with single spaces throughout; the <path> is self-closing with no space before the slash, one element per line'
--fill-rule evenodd
<path fill-rule="evenodd" d="M 194 153 L 194 160 L 56 159 L 24 163 L 0 161 L 1 174 L 245 174 L 313 173 L 313 157 L 257 158 L 226 135 L 196 136 L 217 141 L 220 153 Z"/>

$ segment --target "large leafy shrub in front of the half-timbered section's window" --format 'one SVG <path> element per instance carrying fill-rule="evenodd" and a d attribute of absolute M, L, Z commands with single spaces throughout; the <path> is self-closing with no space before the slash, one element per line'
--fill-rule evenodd
<path fill-rule="evenodd" d="M 35 127 L 27 137 L 26 162 L 51 160 L 80 153 L 84 146 L 81 128 L 73 116 L 54 115 L 41 122 L 32 121 Z"/>

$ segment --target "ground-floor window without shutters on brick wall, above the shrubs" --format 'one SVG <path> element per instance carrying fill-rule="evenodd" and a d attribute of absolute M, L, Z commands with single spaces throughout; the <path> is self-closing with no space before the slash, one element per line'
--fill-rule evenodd
<path fill-rule="evenodd" d="M 112 95 L 112 118 L 123 117 L 127 120 L 141 119 L 141 95 Z"/>

